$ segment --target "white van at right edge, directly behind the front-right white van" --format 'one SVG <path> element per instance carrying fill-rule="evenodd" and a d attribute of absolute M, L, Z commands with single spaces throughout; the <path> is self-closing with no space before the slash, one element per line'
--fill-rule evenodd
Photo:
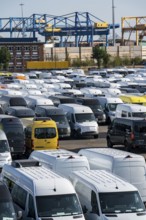
<path fill-rule="evenodd" d="M 146 163 L 143 156 L 111 148 L 82 149 L 78 154 L 87 157 L 91 170 L 107 170 L 135 185 L 146 203 Z"/>

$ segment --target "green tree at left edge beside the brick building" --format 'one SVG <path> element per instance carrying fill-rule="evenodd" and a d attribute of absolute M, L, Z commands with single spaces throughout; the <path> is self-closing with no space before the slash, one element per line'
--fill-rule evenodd
<path fill-rule="evenodd" d="M 0 49 L 0 69 L 7 70 L 11 59 L 10 52 L 6 47 Z"/>

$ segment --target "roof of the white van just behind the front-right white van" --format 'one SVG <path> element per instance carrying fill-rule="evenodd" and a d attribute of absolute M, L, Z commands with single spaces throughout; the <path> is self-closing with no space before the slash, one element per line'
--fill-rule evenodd
<path fill-rule="evenodd" d="M 144 157 L 142 155 L 134 154 L 131 152 L 126 152 L 118 149 L 112 149 L 112 148 L 86 148 L 81 149 L 78 154 L 80 155 L 92 155 L 93 158 L 96 157 L 96 154 L 99 154 L 100 156 L 104 156 L 107 159 L 110 158 L 110 160 L 116 159 L 119 161 L 123 160 L 136 160 L 136 161 L 145 161 Z M 98 160 L 98 157 L 97 157 Z"/>

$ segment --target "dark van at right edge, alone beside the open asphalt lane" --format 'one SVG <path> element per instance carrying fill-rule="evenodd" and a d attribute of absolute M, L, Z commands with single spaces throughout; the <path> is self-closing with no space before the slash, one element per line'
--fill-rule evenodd
<path fill-rule="evenodd" d="M 146 147 L 146 120 L 115 118 L 107 131 L 107 146 L 124 145 L 126 150 Z"/>

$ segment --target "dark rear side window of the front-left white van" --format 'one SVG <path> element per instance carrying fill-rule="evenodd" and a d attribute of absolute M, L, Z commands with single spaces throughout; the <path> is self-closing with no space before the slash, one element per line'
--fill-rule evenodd
<path fill-rule="evenodd" d="M 14 187 L 11 191 L 11 195 L 13 202 L 20 206 L 23 210 L 25 210 L 27 192 L 20 186 L 14 184 Z"/>

